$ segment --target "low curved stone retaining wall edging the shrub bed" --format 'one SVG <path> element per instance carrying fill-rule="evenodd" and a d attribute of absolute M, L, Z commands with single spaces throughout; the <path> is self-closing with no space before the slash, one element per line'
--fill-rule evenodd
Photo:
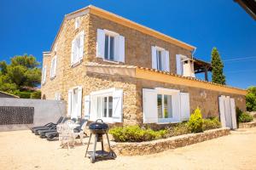
<path fill-rule="evenodd" d="M 230 134 L 230 128 L 225 127 L 208 130 L 204 133 L 189 133 L 168 139 L 158 139 L 140 143 L 116 143 L 112 141 L 111 148 L 117 155 L 142 156 L 183 147 L 189 144 L 196 144 L 228 134 Z"/>

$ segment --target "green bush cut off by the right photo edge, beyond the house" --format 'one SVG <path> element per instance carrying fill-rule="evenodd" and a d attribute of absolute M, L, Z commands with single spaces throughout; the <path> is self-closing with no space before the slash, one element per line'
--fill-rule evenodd
<path fill-rule="evenodd" d="M 247 88 L 247 111 L 256 111 L 256 86 Z"/>

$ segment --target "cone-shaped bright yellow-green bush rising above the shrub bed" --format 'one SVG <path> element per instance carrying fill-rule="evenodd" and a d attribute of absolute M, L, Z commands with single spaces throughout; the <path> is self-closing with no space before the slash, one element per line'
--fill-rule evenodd
<path fill-rule="evenodd" d="M 203 132 L 202 129 L 203 119 L 201 116 L 201 110 L 197 107 L 193 114 L 191 114 L 188 122 L 189 130 L 192 133 L 201 133 Z"/>

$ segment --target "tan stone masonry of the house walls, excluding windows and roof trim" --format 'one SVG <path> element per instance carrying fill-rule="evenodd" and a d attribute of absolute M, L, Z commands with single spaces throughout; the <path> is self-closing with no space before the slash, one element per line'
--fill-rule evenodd
<path fill-rule="evenodd" d="M 46 82 L 42 85 L 42 99 L 55 99 L 55 94 L 61 94 L 61 99 L 67 101 L 68 90 L 77 86 L 83 88 L 82 116 L 84 116 L 84 96 L 93 91 L 107 88 L 122 88 L 124 91 L 123 112 L 124 124 L 142 124 L 142 88 L 175 88 L 181 92 L 188 92 L 190 96 L 190 110 L 201 107 L 203 116 L 218 116 L 218 96 L 230 95 L 236 99 L 236 105 L 245 110 L 245 98 L 241 95 L 223 94 L 202 88 L 177 86 L 170 83 L 147 81 L 134 77 L 111 76 L 86 72 L 88 62 L 108 63 L 96 58 L 96 29 L 116 31 L 125 37 L 125 65 L 138 65 L 151 68 L 151 46 L 166 48 L 170 53 L 170 69 L 176 72 L 176 54 L 183 54 L 191 58 L 191 51 L 178 47 L 130 27 L 119 25 L 111 20 L 103 19 L 95 14 L 80 16 L 80 26 L 75 29 L 75 18 L 63 20 L 61 29 L 55 38 L 52 50 L 44 54 L 43 66 L 47 66 Z M 73 38 L 84 31 L 84 57 L 79 65 L 71 66 L 71 48 Z M 56 51 L 54 50 L 56 49 Z M 49 77 L 50 63 L 57 56 L 56 76 Z M 119 63 L 124 65 L 124 63 Z"/>

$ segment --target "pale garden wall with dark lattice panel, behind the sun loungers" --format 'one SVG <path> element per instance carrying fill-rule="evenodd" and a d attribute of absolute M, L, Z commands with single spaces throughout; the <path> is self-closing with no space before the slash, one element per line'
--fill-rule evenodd
<path fill-rule="evenodd" d="M 1 98 L 0 107 L 3 109 L 0 131 L 22 130 L 44 125 L 48 122 L 56 122 L 60 116 L 66 115 L 66 102 L 62 100 Z M 20 117 L 20 121 L 17 120 L 17 116 Z M 4 118 L 9 120 L 3 120 Z"/>

